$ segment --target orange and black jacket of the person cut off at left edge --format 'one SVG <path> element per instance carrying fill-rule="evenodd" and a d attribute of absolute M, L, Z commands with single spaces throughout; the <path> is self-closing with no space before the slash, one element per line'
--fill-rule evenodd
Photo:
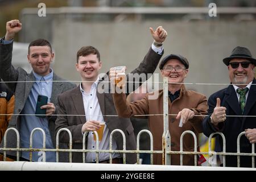
<path fill-rule="evenodd" d="M 0 142 L 5 135 L 5 131 L 8 127 L 8 123 L 11 119 L 11 115 L 14 112 L 14 94 L 9 88 L 3 83 L 0 82 Z"/>

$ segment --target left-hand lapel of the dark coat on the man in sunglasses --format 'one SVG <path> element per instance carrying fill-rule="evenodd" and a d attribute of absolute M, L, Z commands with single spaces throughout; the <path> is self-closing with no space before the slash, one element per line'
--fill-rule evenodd
<path fill-rule="evenodd" d="M 238 102 L 237 93 L 234 90 L 233 85 L 229 85 L 225 91 L 226 99 L 225 101 L 228 103 L 229 107 L 236 113 L 236 115 L 242 115 L 242 111 Z M 223 104 L 221 104 L 223 106 Z M 238 117 L 242 120 L 241 117 Z"/>

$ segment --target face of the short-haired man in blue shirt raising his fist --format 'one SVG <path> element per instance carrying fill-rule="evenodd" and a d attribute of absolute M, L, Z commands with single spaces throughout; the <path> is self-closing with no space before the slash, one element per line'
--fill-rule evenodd
<path fill-rule="evenodd" d="M 29 49 L 27 59 L 33 71 L 40 76 L 48 75 L 50 72 L 49 67 L 54 57 L 51 48 L 48 46 L 31 46 Z"/>

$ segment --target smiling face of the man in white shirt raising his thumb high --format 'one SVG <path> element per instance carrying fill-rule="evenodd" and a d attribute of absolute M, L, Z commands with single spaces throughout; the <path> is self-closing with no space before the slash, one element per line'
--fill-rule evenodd
<path fill-rule="evenodd" d="M 96 81 L 102 63 L 98 60 L 97 55 L 79 56 L 76 69 L 80 73 L 82 81 Z"/>

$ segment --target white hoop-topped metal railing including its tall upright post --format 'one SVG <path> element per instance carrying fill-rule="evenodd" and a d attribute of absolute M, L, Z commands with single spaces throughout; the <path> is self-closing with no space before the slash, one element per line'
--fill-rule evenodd
<path fill-rule="evenodd" d="M 168 78 L 165 77 L 164 81 L 163 81 L 163 85 L 164 85 L 164 93 L 168 93 L 167 89 L 168 89 Z M 28 151 L 30 152 L 30 161 L 32 161 L 32 152 L 34 151 L 42 151 L 43 152 L 43 162 L 46 161 L 46 151 L 52 151 L 52 152 L 56 152 L 56 162 L 59 162 L 59 152 L 69 152 L 69 163 L 72 163 L 72 152 L 82 152 L 82 162 L 85 163 L 85 153 L 86 152 L 96 152 L 96 163 L 99 162 L 98 160 L 98 154 L 99 152 L 108 152 L 110 154 L 113 154 L 114 152 L 118 152 L 118 153 L 122 153 L 123 154 L 123 164 L 126 163 L 126 154 L 127 153 L 135 153 L 137 154 L 137 164 L 139 164 L 139 154 L 140 153 L 149 153 L 151 154 L 151 164 L 153 164 L 153 154 L 162 154 L 163 156 L 163 164 L 166 164 L 166 166 L 170 166 L 171 164 L 171 155 L 172 154 L 180 154 L 180 165 L 183 165 L 183 155 L 195 155 L 195 166 L 197 165 L 197 154 L 205 154 L 205 155 L 209 155 L 212 156 L 213 152 L 210 151 L 211 148 L 211 141 L 212 141 L 212 137 L 213 135 L 221 135 L 222 137 L 222 141 L 223 141 L 223 152 L 214 152 L 214 155 L 223 155 L 223 166 L 226 166 L 226 155 L 236 155 L 237 156 L 237 164 L 238 167 L 240 167 L 240 156 L 244 155 L 244 156 L 251 156 L 251 160 L 252 160 L 252 168 L 255 168 L 255 151 L 254 151 L 254 143 L 251 144 L 252 146 L 252 152 L 251 153 L 241 153 L 240 152 L 240 138 L 242 135 L 245 134 L 245 132 L 241 132 L 240 135 L 238 135 L 237 138 L 237 152 L 236 153 L 232 153 L 232 152 L 226 152 L 226 139 L 224 134 L 222 133 L 212 133 L 209 136 L 208 142 L 209 142 L 209 151 L 208 152 L 199 152 L 197 151 L 197 139 L 196 139 L 196 135 L 195 133 L 193 133 L 193 131 L 184 131 L 181 134 L 180 137 L 180 151 L 172 151 L 171 150 L 171 135 L 168 131 L 168 116 L 172 115 L 168 113 L 168 95 L 164 94 L 164 102 L 163 102 L 163 137 L 162 137 L 162 150 L 161 151 L 154 151 L 153 150 L 153 137 L 150 131 L 148 130 L 142 130 L 139 132 L 138 136 L 137 136 L 137 150 L 126 150 L 126 137 L 125 134 L 123 133 L 122 130 L 119 129 L 115 129 L 112 131 L 112 133 L 110 133 L 110 148 L 109 150 L 99 150 L 98 144 L 98 133 L 97 131 L 94 131 L 95 135 L 96 135 L 96 149 L 93 150 L 88 150 L 86 149 L 86 145 L 85 145 L 85 138 L 86 135 L 88 135 L 88 131 L 86 131 L 83 135 L 82 138 L 82 149 L 73 149 L 73 141 L 72 141 L 72 133 L 71 131 L 69 131 L 68 129 L 60 129 L 57 134 L 56 134 L 56 148 L 46 148 L 46 134 L 44 132 L 43 129 L 40 128 L 35 128 L 34 130 L 32 130 L 31 134 L 30 134 L 30 148 L 20 148 L 20 136 L 19 136 L 19 132 L 18 130 L 16 130 L 15 128 L 9 128 L 6 130 L 6 133 L 3 137 L 3 148 L 0 148 L 0 151 L 3 151 L 3 159 L 6 160 L 6 151 L 16 151 L 16 156 L 17 156 L 17 160 L 19 160 L 19 152 L 20 151 Z M 198 115 L 201 116 L 201 115 Z M 247 117 L 247 116 L 246 116 Z M 14 130 L 14 132 L 16 133 L 16 148 L 7 148 L 7 134 L 11 131 Z M 32 147 L 32 143 L 33 143 L 33 136 L 35 131 L 39 130 L 42 134 L 43 134 L 43 148 L 33 148 Z M 67 148 L 59 148 L 59 135 L 61 132 L 68 132 L 69 134 L 69 149 Z M 122 135 L 123 138 L 123 150 L 112 150 L 112 140 L 113 140 L 113 134 L 119 132 Z M 150 135 L 150 150 L 139 150 L 139 138 L 141 137 L 142 133 L 147 133 Z M 191 134 L 194 138 L 194 151 L 183 151 L 183 137 L 185 134 Z M 112 155 L 110 155 L 110 163 L 112 163 Z"/>

